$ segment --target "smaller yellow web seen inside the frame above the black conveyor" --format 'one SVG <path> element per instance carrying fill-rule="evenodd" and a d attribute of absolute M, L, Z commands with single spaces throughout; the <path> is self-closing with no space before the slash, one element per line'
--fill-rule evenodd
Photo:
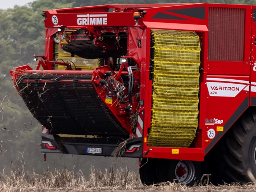
<path fill-rule="evenodd" d="M 76 31 L 76 30 L 74 30 Z M 65 32 L 65 34 L 71 34 L 71 32 Z M 59 40 L 59 35 L 57 36 L 57 40 Z M 66 44 L 65 38 L 61 41 L 61 43 Z M 95 67 L 99 67 L 99 59 L 83 59 L 82 57 L 74 56 L 71 57 L 71 54 L 65 52 L 60 48 L 60 43 L 54 42 L 54 60 L 61 62 L 62 59 L 65 62 L 71 63 L 72 61 L 77 68 L 82 68 L 83 71 L 93 71 Z M 72 69 L 75 69 L 75 66 L 71 63 Z M 56 70 L 65 70 L 67 67 L 63 65 L 57 65 Z"/>

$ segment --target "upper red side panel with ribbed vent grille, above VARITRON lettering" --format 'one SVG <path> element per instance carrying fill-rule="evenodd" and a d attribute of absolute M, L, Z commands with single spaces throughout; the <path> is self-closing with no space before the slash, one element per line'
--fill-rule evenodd
<path fill-rule="evenodd" d="M 249 75 L 251 5 L 207 5 L 207 74 Z"/>

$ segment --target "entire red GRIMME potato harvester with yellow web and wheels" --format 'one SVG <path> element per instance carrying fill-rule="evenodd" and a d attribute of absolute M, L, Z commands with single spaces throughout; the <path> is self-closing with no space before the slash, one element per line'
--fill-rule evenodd
<path fill-rule="evenodd" d="M 44 11 L 45 55 L 34 55 L 36 70 L 11 71 L 42 124 L 44 159 L 138 158 L 147 185 L 193 185 L 204 173 L 216 182 L 250 181 L 255 8 L 183 3 Z"/>

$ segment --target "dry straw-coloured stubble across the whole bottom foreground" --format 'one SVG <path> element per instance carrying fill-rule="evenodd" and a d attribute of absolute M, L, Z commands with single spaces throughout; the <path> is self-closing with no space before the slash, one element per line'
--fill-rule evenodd
<path fill-rule="evenodd" d="M 255 191 L 256 185 L 226 184 L 226 185 L 195 185 L 187 187 L 175 182 L 165 182 L 158 185 L 143 186 L 139 175 L 129 170 L 119 169 L 114 173 L 113 169 L 105 172 L 97 171 L 91 167 L 88 179 L 82 171 L 75 173 L 73 170 L 63 169 L 54 172 L 45 171 L 38 175 L 35 172 L 25 172 L 24 169 L 11 171 L 10 174 L 0 173 L 0 191 Z"/>

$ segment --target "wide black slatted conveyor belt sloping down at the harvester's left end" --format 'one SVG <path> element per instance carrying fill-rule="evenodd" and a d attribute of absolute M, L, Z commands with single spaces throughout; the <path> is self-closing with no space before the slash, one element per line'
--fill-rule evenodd
<path fill-rule="evenodd" d="M 91 77 L 23 74 L 17 83 L 31 113 L 53 134 L 128 135 L 98 97 Z"/>

